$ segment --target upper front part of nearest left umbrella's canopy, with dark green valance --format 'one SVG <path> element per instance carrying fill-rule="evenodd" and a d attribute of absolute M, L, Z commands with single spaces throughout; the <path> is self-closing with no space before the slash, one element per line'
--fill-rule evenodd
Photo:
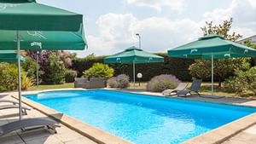
<path fill-rule="evenodd" d="M 0 29 L 19 31 L 77 32 L 83 21 L 82 14 L 49 7 L 35 0 L 0 0 L 0 17 Z"/>

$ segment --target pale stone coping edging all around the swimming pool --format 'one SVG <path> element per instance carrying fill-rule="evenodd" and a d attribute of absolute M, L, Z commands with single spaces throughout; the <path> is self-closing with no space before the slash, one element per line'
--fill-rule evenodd
<path fill-rule="evenodd" d="M 41 93 L 41 92 L 59 91 L 59 90 L 88 90 L 88 89 L 49 89 L 49 90 L 30 91 L 29 93 L 30 94 L 38 94 L 38 93 Z M 129 92 L 129 91 L 126 91 L 126 90 L 121 90 L 121 89 L 108 89 L 108 90 L 117 90 L 117 91 L 121 91 L 121 92 Z M 133 92 L 133 91 L 132 92 L 130 91 L 130 93 L 140 94 L 140 93 Z M 30 95 L 30 94 L 25 94 L 25 95 Z M 160 95 L 154 95 L 154 94 L 142 94 L 142 95 L 162 97 Z M 18 98 L 17 95 L 15 95 L 15 96 L 13 95 L 13 97 L 15 97 L 15 99 L 17 99 Z M 28 100 L 24 96 L 22 98 L 25 98 L 26 101 L 32 102 L 32 104 L 34 103 L 35 105 L 38 105 L 39 107 L 43 107 L 43 110 L 44 110 L 44 108 L 47 108 L 47 109 L 49 109 L 50 112 L 55 111 L 55 110 L 53 110 L 53 109 L 51 109 L 49 107 L 45 107 L 44 105 L 40 106 L 41 104 L 38 104 L 35 101 Z M 191 100 L 191 101 L 197 101 L 197 100 Z M 200 101 L 200 100 L 198 100 L 198 101 Z M 22 102 L 24 102 L 24 101 L 22 101 Z M 209 102 L 209 101 L 205 101 L 205 102 Z M 210 102 L 212 102 L 212 101 L 210 101 Z M 24 103 L 26 103 L 26 102 L 24 102 Z M 212 102 L 212 103 L 220 103 L 220 104 L 227 104 L 227 105 L 240 106 L 240 107 L 251 107 L 251 106 L 228 104 L 228 103 L 222 103 L 222 102 Z M 27 105 L 29 105 L 29 104 L 27 104 Z M 38 107 L 34 107 L 34 108 L 37 109 L 39 112 L 43 112 L 44 114 L 48 115 L 51 118 L 55 118 L 55 117 L 52 116 L 53 114 L 56 114 L 56 113 L 63 114 L 63 113 L 57 112 L 57 111 L 53 112 L 52 114 L 50 114 L 50 113 L 48 114 L 48 113 L 45 113 L 44 111 L 38 109 Z M 67 119 L 70 118 L 70 120 L 72 120 L 72 121 L 75 120 L 75 121 L 78 121 L 81 124 L 85 124 L 86 126 L 90 126 L 90 128 L 92 127 L 95 130 L 99 130 L 98 128 L 96 128 L 94 126 L 91 126 L 90 124 L 86 124 L 84 122 L 80 122 L 79 120 L 77 120 L 75 118 L 71 118 L 71 117 L 69 117 L 69 116 L 67 116 L 65 114 L 63 114 L 62 117 L 65 117 Z M 55 119 L 61 122 L 61 120 L 59 118 L 55 118 Z M 207 131 L 206 133 L 203 133 L 201 135 L 197 135 L 195 137 L 192 137 L 192 138 L 190 138 L 187 141 L 183 141 L 182 144 L 219 144 L 219 143 L 222 143 L 222 142 L 227 141 L 228 139 L 230 139 L 232 136 L 240 133 L 242 130 L 246 130 L 247 128 L 253 126 L 253 124 L 256 124 L 256 121 L 253 122 L 254 119 L 256 119 L 256 112 L 251 113 L 251 114 L 249 114 L 249 115 L 247 115 L 245 117 L 236 119 L 235 121 L 232 121 L 229 124 L 224 124 L 224 125 L 216 128 L 216 129 Z M 81 132 L 83 133 L 83 131 L 81 131 L 79 129 L 77 130 L 77 129 L 73 128 L 74 125 L 65 124 L 65 122 L 62 122 L 62 123 L 64 123 L 64 125 L 66 125 L 68 128 L 79 132 L 80 134 L 81 134 Z M 77 125 L 77 124 L 75 124 L 75 125 Z M 85 128 L 84 128 L 84 130 L 85 130 Z M 85 131 L 90 131 L 90 129 L 89 130 L 85 130 Z M 104 130 L 101 130 L 101 131 L 102 131 L 102 133 L 105 133 L 107 135 L 112 135 L 112 134 L 109 134 L 108 132 L 106 132 Z M 104 141 L 98 141 L 97 139 L 95 140 L 94 139 L 95 138 L 94 135 L 88 135 L 87 133 L 86 134 L 81 134 L 81 135 L 84 135 L 84 136 L 86 136 L 86 137 L 88 137 L 91 140 L 96 141 L 96 142 L 100 142 L 100 143 L 102 143 L 102 142 L 105 143 L 106 142 L 105 141 L 106 139 L 104 139 Z M 122 141 L 125 141 L 125 140 L 123 140 L 122 138 L 120 138 L 118 136 L 115 136 L 115 135 L 112 135 L 112 136 L 114 136 L 114 137 L 116 137 L 118 139 L 121 139 Z M 115 142 L 115 141 L 112 141 L 112 140 L 109 141 L 108 138 L 107 138 L 107 141 L 108 141 L 108 143 L 111 143 L 111 144 L 113 144 Z M 125 141 L 125 142 L 131 143 L 130 141 Z"/>

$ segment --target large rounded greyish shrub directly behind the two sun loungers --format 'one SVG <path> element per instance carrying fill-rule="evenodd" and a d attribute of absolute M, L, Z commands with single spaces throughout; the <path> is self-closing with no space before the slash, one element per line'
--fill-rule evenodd
<path fill-rule="evenodd" d="M 161 92 L 165 89 L 175 89 L 179 83 L 179 80 L 175 76 L 162 74 L 160 76 L 155 76 L 148 82 L 147 90 Z"/>

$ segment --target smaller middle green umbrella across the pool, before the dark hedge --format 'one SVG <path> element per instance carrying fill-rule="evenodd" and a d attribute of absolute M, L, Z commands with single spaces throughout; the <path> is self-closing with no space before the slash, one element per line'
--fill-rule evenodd
<path fill-rule="evenodd" d="M 115 55 L 110 55 L 104 58 L 105 63 L 125 63 L 133 64 L 133 83 L 135 84 L 135 64 L 164 62 L 164 58 L 159 55 L 154 55 L 143 51 L 135 46 L 125 49 Z"/>

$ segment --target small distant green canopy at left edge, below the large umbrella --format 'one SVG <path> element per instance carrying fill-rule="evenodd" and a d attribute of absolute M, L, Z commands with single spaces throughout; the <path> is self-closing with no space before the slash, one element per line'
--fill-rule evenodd
<path fill-rule="evenodd" d="M 18 57 L 15 50 L 0 50 L 0 61 L 16 62 L 17 60 Z M 25 58 L 21 55 L 20 60 L 25 61 Z"/>

